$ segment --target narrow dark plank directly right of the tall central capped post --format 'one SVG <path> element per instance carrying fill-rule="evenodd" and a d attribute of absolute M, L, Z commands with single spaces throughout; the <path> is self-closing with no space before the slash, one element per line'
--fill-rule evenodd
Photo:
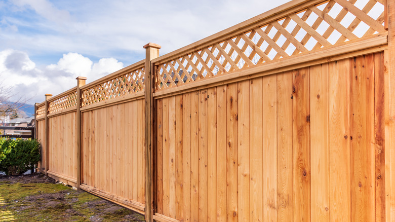
<path fill-rule="evenodd" d="M 163 108 L 156 100 L 156 212 L 163 214 Z"/>

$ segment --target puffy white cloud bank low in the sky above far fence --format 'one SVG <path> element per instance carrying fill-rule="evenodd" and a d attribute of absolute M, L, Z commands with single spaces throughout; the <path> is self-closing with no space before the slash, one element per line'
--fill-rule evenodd
<path fill-rule="evenodd" d="M 87 77 L 87 82 L 95 81 L 124 64 L 114 58 L 102 58 L 93 63 L 89 58 L 77 53 L 64 54 L 56 64 L 36 67 L 25 52 L 16 50 L 0 51 L 0 84 L 12 87 L 13 93 L 29 98 L 29 103 L 44 101 L 44 95 L 57 95 L 76 85 L 77 76 Z"/>

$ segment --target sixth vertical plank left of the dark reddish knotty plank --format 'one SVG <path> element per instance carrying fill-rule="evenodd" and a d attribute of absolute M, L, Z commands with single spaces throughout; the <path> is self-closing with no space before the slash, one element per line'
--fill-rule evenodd
<path fill-rule="evenodd" d="M 217 87 L 217 221 L 226 221 L 226 86 Z"/>

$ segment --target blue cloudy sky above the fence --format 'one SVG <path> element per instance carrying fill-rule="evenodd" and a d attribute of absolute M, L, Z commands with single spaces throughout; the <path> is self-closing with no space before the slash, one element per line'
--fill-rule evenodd
<path fill-rule="evenodd" d="M 0 0 L 0 83 L 28 103 L 140 61 L 152 42 L 161 55 L 288 0 Z"/>

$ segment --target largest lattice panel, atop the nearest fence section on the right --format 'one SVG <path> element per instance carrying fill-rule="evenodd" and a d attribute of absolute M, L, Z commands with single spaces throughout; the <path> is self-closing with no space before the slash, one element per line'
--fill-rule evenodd
<path fill-rule="evenodd" d="M 331 0 L 155 64 L 155 90 L 382 33 L 384 0 Z"/>

